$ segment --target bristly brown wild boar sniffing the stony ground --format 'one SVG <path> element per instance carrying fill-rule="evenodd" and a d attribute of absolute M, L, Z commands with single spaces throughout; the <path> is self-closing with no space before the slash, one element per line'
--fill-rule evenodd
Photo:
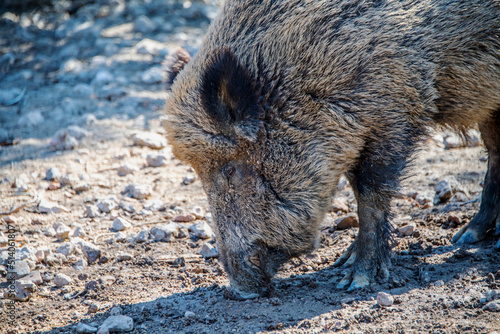
<path fill-rule="evenodd" d="M 269 293 L 316 247 L 342 174 L 360 227 L 338 288 L 388 277 L 390 201 L 432 126 L 478 124 L 489 153 L 479 213 L 453 241 L 500 232 L 499 1 L 228 0 L 175 59 L 167 136 L 203 183 L 234 298 Z"/>

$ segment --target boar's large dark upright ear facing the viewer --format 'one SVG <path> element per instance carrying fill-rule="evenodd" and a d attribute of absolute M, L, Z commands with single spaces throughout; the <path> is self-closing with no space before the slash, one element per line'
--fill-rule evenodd
<path fill-rule="evenodd" d="M 220 51 L 201 80 L 201 101 L 222 129 L 234 129 L 238 137 L 257 140 L 262 128 L 262 109 L 257 103 L 255 83 L 236 55 Z"/>

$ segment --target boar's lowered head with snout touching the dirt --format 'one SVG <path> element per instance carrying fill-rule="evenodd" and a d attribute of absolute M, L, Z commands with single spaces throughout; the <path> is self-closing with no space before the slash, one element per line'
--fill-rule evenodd
<path fill-rule="evenodd" d="M 263 86 L 228 49 L 194 58 L 172 85 L 164 122 L 175 156 L 203 183 L 239 299 L 268 294 L 281 264 L 314 249 L 332 193 L 322 140 L 263 101 Z"/>

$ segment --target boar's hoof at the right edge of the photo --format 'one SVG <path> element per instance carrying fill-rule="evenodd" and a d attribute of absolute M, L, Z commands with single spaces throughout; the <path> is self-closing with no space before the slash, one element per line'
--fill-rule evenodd
<path fill-rule="evenodd" d="M 451 239 L 457 245 L 471 244 L 486 238 L 487 232 L 496 223 L 496 233 L 500 234 L 500 215 L 491 218 L 480 211 L 466 226 L 462 227 Z"/>

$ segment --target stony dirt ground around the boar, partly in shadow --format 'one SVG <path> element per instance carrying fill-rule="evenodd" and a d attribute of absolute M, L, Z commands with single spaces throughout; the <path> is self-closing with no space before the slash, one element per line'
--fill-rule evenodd
<path fill-rule="evenodd" d="M 500 331 L 500 244 L 450 243 L 479 207 L 486 155 L 475 132 L 467 145 L 439 132 L 422 146 L 393 202 L 389 281 L 335 288 L 345 269 L 332 264 L 357 233 L 343 181 L 320 248 L 283 267 L 273 296 L 224 298 L 201 184 L 173 158 L 161 127 L 162 63 L 177 46 L 196 53 L 217 5 L 0 5 L 2 330 Z"/>

